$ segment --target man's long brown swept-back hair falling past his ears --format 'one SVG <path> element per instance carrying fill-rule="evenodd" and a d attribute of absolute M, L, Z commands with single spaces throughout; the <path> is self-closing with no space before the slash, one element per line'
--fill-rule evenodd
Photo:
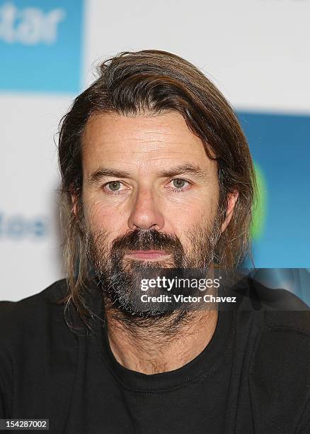
<path fill-rule="evenodd" d="M 234 111 L 221 92 L 194 65 L 159 50 L 121 52 L 98 67 L 98 79 L 76 97 L 59 129 L 59 167 L 62 174 L 64 260 L 69 293 L 82 320 L 90 268 L 84 233 L 72 211 L 71 196 L 81 199 L 81 147 L 86 123 L 93 113 L 125 116 L 178 111 L 188 128 L 202 140 L 205 152 L 217 160 L 220 202 L 239 192 L 234 213 L 217 245 L 219 265 L 236 267 L 248 252 L 249 228 L 256 180 L 248 143 Z M 87 323 L 87 321 L 84 321 Z"/>

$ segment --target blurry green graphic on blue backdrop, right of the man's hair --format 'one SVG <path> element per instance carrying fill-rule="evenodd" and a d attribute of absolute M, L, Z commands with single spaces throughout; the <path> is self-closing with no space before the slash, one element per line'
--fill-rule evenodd
<path fill-rule="evenodd" d="M 258 240 L 263 234 L 265 226 L 266 206 L 267 206 L 267 188 L 265 176 L 262 169 L 257 163 L 254 163 L 256 173 L 256 183 L 258 187 L 258 195 L 256 197 L 256 206 L 253 208 L 253 221 L 251 226 L 252 240 Z"/>

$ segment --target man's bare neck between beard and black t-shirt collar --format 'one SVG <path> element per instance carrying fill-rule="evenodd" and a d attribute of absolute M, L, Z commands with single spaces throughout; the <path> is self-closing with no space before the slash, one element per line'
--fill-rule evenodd
<path fill-rule="evenodd" d="M 217 311 L 172 313 L 142 323 L 123 321 L 106 309 L 108 339 L 117 362 L 143 374 L 183 367 L 202 352 L 217 325 Z"/>

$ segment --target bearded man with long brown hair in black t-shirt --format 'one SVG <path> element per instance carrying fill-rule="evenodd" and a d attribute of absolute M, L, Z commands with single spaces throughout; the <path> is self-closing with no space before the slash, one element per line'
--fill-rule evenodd
<path fill-rule="evenodd" d="M 171 269 L 215 282 L 248 252 L 251 155 L 209 80 L 168 52 L 104 62 L 64 116 L 59 165 L 67 280 L 1 308 L 1 417 L 52 433 L 309 433 L 301 302 L 261 308 L 269 292 L 241 279 L 238 308 L 167 308 L 137 284 Z"/>

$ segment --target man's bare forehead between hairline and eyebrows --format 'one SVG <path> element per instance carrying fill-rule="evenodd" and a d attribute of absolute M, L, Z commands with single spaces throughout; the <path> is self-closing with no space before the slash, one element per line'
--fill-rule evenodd
<path fill-rule="evenodd" d="M 214 161 L 205 147 L 177 112 L 156 116 L 121 116 L 96 113 L 84 131 L 84 170 L 95 169 L 103 162 L 130 169 L 151 171 L 171 163 L 192 163 L 210 167 Z"/>

